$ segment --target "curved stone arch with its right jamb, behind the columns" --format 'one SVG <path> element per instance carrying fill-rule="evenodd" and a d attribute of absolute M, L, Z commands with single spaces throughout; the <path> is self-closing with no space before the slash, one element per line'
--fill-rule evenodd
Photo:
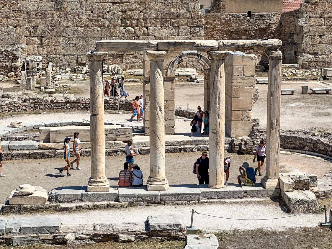
<path fill-rule="evenodd" d="M 211 61 L 198 52 L 181 53 L 176 56 L 166 69 L 166 76 L 174 76 L 175 70 L 182 62 L 199 62 L 204 69 L 204 111 L 210 111 L 210 71 Z"/>

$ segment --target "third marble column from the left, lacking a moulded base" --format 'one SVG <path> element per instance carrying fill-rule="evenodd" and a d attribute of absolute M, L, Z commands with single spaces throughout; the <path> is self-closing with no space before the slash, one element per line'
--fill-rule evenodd
<path fill-rule="evenodd" d="M 228 51 L 209 51 L 210 73 L 210 129 L 208 187 L 224 187 L 225 156 L 225 68 Z"/>

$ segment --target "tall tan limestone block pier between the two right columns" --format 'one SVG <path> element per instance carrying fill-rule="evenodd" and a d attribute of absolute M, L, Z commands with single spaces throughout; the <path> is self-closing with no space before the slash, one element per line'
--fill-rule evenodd
<path fill-rule="evenodd" d="M 247 136 L 252 130 L 254 76 L 255 55 L 229 53 L 225 59 L 225 131 L 230 137 Z"/>

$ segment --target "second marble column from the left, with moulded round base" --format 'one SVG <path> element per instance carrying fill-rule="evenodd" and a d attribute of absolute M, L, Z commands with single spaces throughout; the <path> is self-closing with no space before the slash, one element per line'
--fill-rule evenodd
<path fill-rule="evenodd" d="M 164 59 L 165 51 L 147 51 L 150 59 L 150 176 L 148 191 L 167 190 L 165 176 L 165 108 Z"/>

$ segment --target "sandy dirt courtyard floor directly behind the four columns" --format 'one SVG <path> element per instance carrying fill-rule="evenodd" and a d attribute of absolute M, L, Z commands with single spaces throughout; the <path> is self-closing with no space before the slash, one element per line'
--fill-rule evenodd
<path fill-rule="evenodd" d="M 229 156 L 232 160 L 229 183 L 237 183 L 238 167 L 244 161 L 249 162 L 251 167 L 256 167 L 256 163 L 252 162 L 252 155 L 226 153 L 225 156 Z M 192 170 L 195 160 L 199 157 L 199 152 L 167 153 L 165 155 L 165 174 L 169 184 L 198 184 L 197 177 L 192 173 Z M 150 172 L 149 155 L 137 155 L 135 156 L 135 162 L 140 165 L 145 184 Z M 106 176 L 110 181 L 110 185 L 118 184 L 119 171 L 122 170 L 123 163 L 124 156 L 106 157 Z M 312 165 L 315 165 L 315 167 L 313 168 Z M 21 184 L 40 185 L 47 191 L 60 186 L 85 186 L 87 184 L 90 177 L 90 157 L 81 158 L 80 167 L 83 170 L 70 170 L 74 175 L 73 177 L 60 176 L 58 169 L 63 166 L 65 164 L 61 158 L 4 161 L 3 174 L 6 177 L 0 178 L 0 202 L 3 202 L 11 191 Z M 265 175 L 264 166 L 262 169 L 263 175 Z M 281 154 L 280 167 L 281 172 L 304 171 L 307 174 L 321 176 L 332 170 L 332 163 L 305 155 Z M 260 182 L 261 178 L 256 176 L 256 181 Z"/>

